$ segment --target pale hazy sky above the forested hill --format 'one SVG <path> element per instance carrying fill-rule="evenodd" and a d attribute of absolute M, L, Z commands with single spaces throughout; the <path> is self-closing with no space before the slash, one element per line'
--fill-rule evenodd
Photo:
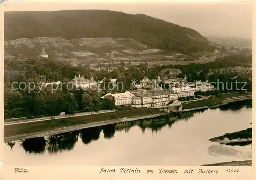
<path fill-rule="evenodd" d="M 94 2 L 94 3 L 90 3 Z M 96 2 L 96 3 L 95 3 Z M 108 2 L 108 3 L 106 3 Z M 112 3 L 111 3 L 112 2 Z M 118 3 L 117 3 L 118 2 Z M 185 27 L 204 36 L 252 37 L 253 1 L 202 2 L 126 0 L 80 1 L 8 1 L 5 11 L 58 11 L 69 9 L 104 9 L 125 13 L 142 13 Z M 255 4 L 255 2 L 254 2 Z"/>

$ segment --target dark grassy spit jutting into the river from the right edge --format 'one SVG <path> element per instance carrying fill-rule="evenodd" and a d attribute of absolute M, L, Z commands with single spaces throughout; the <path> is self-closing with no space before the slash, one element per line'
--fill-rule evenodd
<path fill-rule="evenodd" d="M 248 128 L 246 130 L 242 130 L 234 133 L 226 133 L 223 136 L 211 138 L 209 140 L 212 142 L 219 142 L 219 143 L 251 142 L 252 128 Z"/>

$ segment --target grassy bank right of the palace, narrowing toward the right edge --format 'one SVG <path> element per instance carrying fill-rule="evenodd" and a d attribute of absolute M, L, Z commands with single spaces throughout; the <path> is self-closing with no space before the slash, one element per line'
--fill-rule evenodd
<path fill-rule="evenodd" d="M 217 95 L 216 97 L 211 97 L 208 99 L 193 101 L 193 102 L 184 102 L 182 103 L 183 108 L 182 110 L 194 110 L 194 109 L 201 109 L 201 108 L 213 108 L 218 107 L 221 105 L 226 105 L 230 102 L 240 101 L 251 99 L 252 95 L 245 95 L 242 96 L 240 94 L 229 93 L 229 94 L 221 94 Z"/>

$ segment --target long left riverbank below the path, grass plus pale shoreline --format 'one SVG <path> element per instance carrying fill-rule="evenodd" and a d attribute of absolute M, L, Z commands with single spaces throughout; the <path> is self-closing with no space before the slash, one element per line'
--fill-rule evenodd
<path fill-rule="evenodd" d="M 58 133 L 81 130 L 83 128 L 97 127 L 120 122 L 135 121 L 139 119 L 155 118 L 168 113 L 156 109 L 132 109 L 105 114 L 56 119 L 53 121 L 40 121 L 24 124 L 4 126 L 4 142 L 50 136 Z"/>

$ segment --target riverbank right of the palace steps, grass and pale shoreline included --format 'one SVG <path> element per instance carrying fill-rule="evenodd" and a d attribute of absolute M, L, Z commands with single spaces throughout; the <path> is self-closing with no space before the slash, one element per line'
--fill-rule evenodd
<path fill-rule="evenodd" d="M 227 105 L 230 102 L 243 101 L 252 99 L 252 95 L 232 97 L 227 99 L 222 98 L 208 98 L 194 102 L 183 103 L 181 112 L 194 111 L 200 109 L 217 108 L 219 106 Z"/>

